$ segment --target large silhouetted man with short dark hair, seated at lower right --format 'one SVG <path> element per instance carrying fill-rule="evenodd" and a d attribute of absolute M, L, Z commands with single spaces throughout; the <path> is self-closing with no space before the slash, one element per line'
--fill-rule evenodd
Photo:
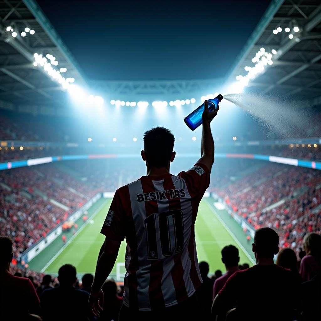
<path fill-rule="evenodd" d="M 279 236 L 270 228 L 256 231 L 252 250 L 256 265 L 236 271 L 213 301 L 212 313 L 237 320 L 294 320 L 299 315 L 300 282 L 274 264 Z M 224 319 L 225 320 L 225 319 Z"/>

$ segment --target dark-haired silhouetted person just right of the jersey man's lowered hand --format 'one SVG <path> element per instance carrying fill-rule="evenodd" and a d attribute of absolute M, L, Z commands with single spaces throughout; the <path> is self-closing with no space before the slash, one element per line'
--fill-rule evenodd
<path fill-rule="evenodd" d="M 104 292 L 104 303 L 102 305 L 103 311 L 99 320 L 117 321 L 123 303 L 123 299 L 117 295 L 117 284 L 114 280 L 108 279 L 101 289 Z"/>

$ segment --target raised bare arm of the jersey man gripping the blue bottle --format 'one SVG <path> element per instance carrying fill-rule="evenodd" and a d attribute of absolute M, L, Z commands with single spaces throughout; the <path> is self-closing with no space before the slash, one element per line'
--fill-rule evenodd
<path fill-rule="evenodd" d="M 208 101 L 205 100 L 204 112 L 202 115 L 203 121 L 203 132 L 202 132 L 202 141 L 201 141 L 201 158 L 196 162 L 204 164 L 209 172 L 211 173 L 212 165 L 214 163 L 214 140 L 211 132 L 211 121 L 217 115 L 219 107 L 210 112 L 208 110 Z"/>

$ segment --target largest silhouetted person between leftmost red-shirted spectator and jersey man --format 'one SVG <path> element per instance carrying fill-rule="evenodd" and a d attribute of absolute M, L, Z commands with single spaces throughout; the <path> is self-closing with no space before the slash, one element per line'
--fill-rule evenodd
<path fill-rule="evenodd" d="M 44 321 L 87 321 L 89 293 L 74 287 L 77 281 L 76 268 L 63 265 L 58 271 L 59 286 L 43 291 L 41 309 Z"/>

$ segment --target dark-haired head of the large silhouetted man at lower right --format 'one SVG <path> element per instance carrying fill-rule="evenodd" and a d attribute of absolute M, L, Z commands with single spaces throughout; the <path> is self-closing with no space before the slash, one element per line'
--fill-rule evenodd
<path fill-rule="evenodd" d="M 258 256 L 271 258 L 279 246 L 279 236 L 269 227 L 262 227 L 255 232 L 254 244 Z"/>

